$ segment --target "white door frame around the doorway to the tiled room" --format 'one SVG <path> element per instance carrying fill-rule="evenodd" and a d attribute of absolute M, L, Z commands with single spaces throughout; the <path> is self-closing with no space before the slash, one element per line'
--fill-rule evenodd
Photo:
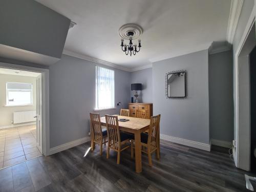
<path fill-rule="evenodd" d="M 15 65 L 12 63 L 0 62 L 1 68 L 15 69 L 22 71 L 30 71 L 41 73 L 42 75 L 42 153 L 45 156 L 50 155 L 50 123 L 49 123 L 49 69 L 42 69 L 36 67 Z"/>

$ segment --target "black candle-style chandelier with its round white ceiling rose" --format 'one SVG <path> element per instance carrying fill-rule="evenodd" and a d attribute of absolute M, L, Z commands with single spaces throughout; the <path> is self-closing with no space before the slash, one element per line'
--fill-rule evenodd
<path fill-rule="evenodd" d="M 142 28 L 137 24 L 125 24 L 119 29 L 121 37 L 121 49 L 126 55 L 136 55 L 141 48 L 141 40 L 138 39 L 138 46 L 133 44 L 133 40 L 139 38 L 142 34 Z M 124 39 L 129 40 L 129 44 L 124 44 Z"/>

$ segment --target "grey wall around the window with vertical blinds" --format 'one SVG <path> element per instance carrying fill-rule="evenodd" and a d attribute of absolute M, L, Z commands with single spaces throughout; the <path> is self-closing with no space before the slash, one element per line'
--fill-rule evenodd
<path fill-rule="evenodd" d="M 95 108 L 95 66 L 90 61 L 62 55 L 50 66 L 50 147 L 88 136 L 89 113 Z M 127 108 L 131 73 L 115 70 L 115 103 Z M 101 115 L 119 113 L 99 111 Z"/>

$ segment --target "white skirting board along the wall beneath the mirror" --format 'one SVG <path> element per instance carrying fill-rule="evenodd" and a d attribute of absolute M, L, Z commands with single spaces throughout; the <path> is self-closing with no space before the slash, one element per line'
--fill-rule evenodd
<path fill-rule="evenodd" d="M 162 134 L 160 134 L 160 139 L 174 142 L 174 143 L 179 143 L 182 145 L 199 148 L 200 150 L 204 150 L 204 151 L 208 151 L 208 152 L 210 151 L 210 144 L 200 143 L 200 142 L 196 142 L 196 141 L 190 141 L 190 140 L 181 139 L 178 137 L 172 137 L 172 136 L 168 136 L 168 135 L 162 135 Z"/>

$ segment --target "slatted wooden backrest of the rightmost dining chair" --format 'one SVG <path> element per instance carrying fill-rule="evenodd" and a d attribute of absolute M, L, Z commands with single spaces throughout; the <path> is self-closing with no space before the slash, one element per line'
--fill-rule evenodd
<path fill-rule="evenodd" d="M 150 118 L 150 130 L 148 132 L 147 144 L 150 147 L 150 151 L 155 150 L 158 143 L 159 124 L 161 115 L 152 116 Z"/>

